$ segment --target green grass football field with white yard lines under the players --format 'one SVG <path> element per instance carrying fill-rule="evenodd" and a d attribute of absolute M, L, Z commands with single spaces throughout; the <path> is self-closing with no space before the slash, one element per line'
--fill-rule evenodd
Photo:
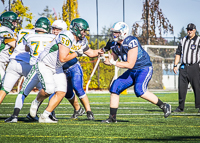
<path fill-rule="evenodd" d="M 162 101 L 178 105 L 177 93 L 155 93 Z M 188 93 L 183 113 L 172 113 L 164 118 L 163 112 L 155 105 L 135 97 L 134 94 L 120 95 L 118 123 L 103 124 L 108 118 L 109 94 L 88 94 L 94 121 L 87 120 L 86 115 L 77 120 L 69 119 L 73 108 L 66 99 L 56 108 L 57 124 L 30 122 L 31 101 L 35 95 L 29 95 L 20 112 L 17 123 L 4 123 L 13 113 L 17 95 L 7 95 L 0 105 L 0 142 L 200 142 L 200 113 L 194 106 L 194 94 Z M 42 113 L 47 100 L 39 109 Z"/>

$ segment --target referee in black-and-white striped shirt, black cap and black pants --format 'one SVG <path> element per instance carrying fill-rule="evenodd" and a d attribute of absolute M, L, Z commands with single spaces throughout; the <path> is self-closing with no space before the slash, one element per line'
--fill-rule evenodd
<path fill-rule="evenodd" d="M 176 50 L 174 60 L 174 73 L 179 67 L 178 94 L 179 106 L 173 112 L 183 112 L 188 84 L 190 83 L 195 96 L 195 108 L 200 112 L 200 37 L 196 35 L 196 26 L 193 23 L 187 25 L 187 36 L 181 39 Z"/>

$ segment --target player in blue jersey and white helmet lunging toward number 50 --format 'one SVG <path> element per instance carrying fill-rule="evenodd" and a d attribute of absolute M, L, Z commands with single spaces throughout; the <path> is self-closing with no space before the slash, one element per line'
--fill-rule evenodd
<path fill-rule="evenodd" d="M 111 28 L 113 42 L 108 42 L 105 51 L 111 49 L 106 65 L 115 65 L 128 70 L 119 76 L 110 87 L 110 115 L 103 123 L 117 122 L 116 114 L 119 106 L 119 95 L 122 91 L 134 85 L 137 97 L 141 97 L 159 106 L 164 117 L 171 114 L 171 105 L 163 103 L 156 95 L 147 91 L 147 85 L 153 74 L 153 67 L 148 53 L 142 48 L 138 39 L 128 36 L 129 27 L 124 22 L 117 22 Z M 121 61 L 117 61 L 117 59 Z"/>

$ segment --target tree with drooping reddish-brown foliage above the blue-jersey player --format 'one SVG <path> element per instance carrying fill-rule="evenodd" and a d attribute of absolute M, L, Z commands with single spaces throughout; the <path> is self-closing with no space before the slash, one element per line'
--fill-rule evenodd
<path fill-rule="evenodd" d="M 162 33 L 170 32 L 173 34 L 173 26 L 170 24 L 169 20 L 164 16 L 162 9 L 159 7 L 159 0 L 146 0 L 147 3 L 143 4 L 143 13 L 141 20 L 143 21 L 142 26 L 138 22 L 133 24 L 133 35 L 140 38 L 141 43 L 147 41 L 147 23 L 148 19 L 148 37 L 151 37 L 152 44 L 161 44 L 166 42 L 162 38 Z M 148 13 L 148 17 L 147 17 Z M 138 34 L 139 29 L 142 29 L 141 35 Z M 156 30 L 158 30 L 159 38 L 157 38 Z M 149 43 L 150 44 L 150 43 Z"/>

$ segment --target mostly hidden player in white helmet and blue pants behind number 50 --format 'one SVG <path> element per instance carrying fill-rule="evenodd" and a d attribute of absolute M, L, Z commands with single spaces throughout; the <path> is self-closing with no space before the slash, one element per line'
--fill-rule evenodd
<path fill-rule="evenodd" d="M 63 22 L 64 21 L 62 20 L 56 20 L 53 22 L 52 24 L 53 34 L 58 35 L 58 33 L 61 32 L 62 30 L 67 30 L 67 28 L 61 28 L 61 27 L 64 27 L 65 25 L 65 23 Z M 94 120 L 94 115 L 90 108 L 89 99 L 83 89 L 83 71 L 78 59 L 74 58 L 66 62 L 63 65 L 63 70 L 67 77 L 67 93 L 65 97 L 69 100 L 69 102 L 74 107 L 74 114 L 71 116 L 71 118 L 76 119 L 78 116 L 81 116 L 82 114 L 85 113 L 84 109 L 79 105 L 76 96 L 74 96 L 75 95 L 73 92 L 74 90 L 86 110 L 87 118 L 89 120 Z M 51 99 L 53 95 L 54 94 L 52 94 L 49 97 L 49 100 Z M 52 112 L 52 116 L 50 117 L 53 117 L 54 120 L 57 120 L 55 117 L 54 111 Z"/>

